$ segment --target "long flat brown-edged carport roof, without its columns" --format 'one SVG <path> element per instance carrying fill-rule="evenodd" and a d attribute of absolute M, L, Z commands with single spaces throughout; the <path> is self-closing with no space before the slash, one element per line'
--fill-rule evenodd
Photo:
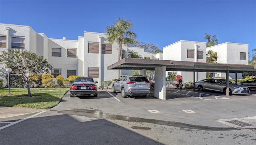
<path fill-rule="evenodd" d="M 166 71 L 226 72 L 229 70 L 230 73 L 256 73 L 256 66 L 254 65 L 148 60 L 138 58 L 124 58 L 108 66 L 108 70 L 155 70 L 155 68 L 161 66 L 165 66 Z"/>

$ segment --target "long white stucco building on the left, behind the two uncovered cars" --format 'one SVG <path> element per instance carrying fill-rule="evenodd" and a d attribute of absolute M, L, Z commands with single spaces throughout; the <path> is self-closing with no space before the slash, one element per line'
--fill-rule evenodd
<path fill-rule="evenodd" d="M 80 75 L 93 77 L 98 82 L 118 78 L 117 70 L 107 70 L 107 66 L 118 61 L 118 47 L 117 43 L 108 43 L 104 33 L 84 32 L 78 40 L 53 39 L 35 32 L 30 26 L 0 24 L 0 52 L 21 48 L 44 56 L 54 68 L 52 74 L 64 78 Z M 144 53 L 144 48 L 123 45 L 121 59 L 132 50 L 142 58 L 152 58 L 150 53 Z M 132 72 L 121 70 L 121 74 Z M 4 79 L 5 75 L 5 68 L 0 64 L 0 78 Z"/>

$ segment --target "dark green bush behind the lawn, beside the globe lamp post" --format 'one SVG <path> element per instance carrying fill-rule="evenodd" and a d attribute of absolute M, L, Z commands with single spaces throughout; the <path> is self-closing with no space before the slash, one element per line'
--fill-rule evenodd
<path fill-rule="evenodd" d="M 5 76 L 8 83 L 8 75 Z M 20 74 L 10 74 L 10 85 L 17 88 L 24 88 L 24 81 Z"/>

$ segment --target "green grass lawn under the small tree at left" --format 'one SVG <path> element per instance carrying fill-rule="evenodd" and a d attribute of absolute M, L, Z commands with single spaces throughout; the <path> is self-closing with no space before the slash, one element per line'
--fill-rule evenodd
<path fill-rule="evenodd" d="M 30 88 L 32 97 L 28 96 L 28 89 L 11 88 L 0 89 L 0 106 L 50 109 L 56 106 L 69 88 Z"/>

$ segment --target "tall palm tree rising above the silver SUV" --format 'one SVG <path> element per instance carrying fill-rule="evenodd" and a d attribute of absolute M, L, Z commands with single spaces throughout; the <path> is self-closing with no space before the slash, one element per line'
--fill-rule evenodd
<path fill-rule="evenodd" d="M 137 35 L 132 32 L 132 22 L 126 21 L 124 18 L 118 18 L 112 26 L 107 26 L 106 36 L 108 42 L 114 43 L 117 41 L 119 44 L 118 61 L 121 57 L 122 44 L 132 44 L 137 37 Z M 118 70 L 118 77 L 120 77 L 120 70 Z"/>

